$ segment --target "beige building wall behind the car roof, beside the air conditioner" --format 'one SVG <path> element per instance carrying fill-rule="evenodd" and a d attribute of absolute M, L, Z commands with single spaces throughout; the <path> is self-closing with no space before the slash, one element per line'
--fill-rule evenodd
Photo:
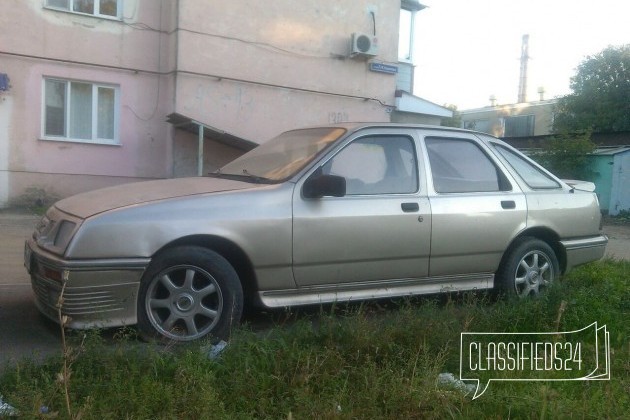
<path fill-rule="evenodd" d="M 378 59 L 396 62 L 397 2 L 181 1 L 176 111 L 258 143 L 306 125 L 389 121 L 395 78 L 348 58 L 351 33 L 373 31 L 370 10 Z"/>

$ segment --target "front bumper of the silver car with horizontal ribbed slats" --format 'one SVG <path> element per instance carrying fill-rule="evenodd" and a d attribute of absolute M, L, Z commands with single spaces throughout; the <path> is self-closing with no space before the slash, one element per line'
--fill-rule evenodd
<path fill-rule="evenodd" d="M 59 295 L 65 282 L 61 315 L 69 328 L 119 327 L 137 322 L 140 279 L 148 258 L 68 261 L 37 246 L 24 245 L 39 311 L 59 322 Z"/>

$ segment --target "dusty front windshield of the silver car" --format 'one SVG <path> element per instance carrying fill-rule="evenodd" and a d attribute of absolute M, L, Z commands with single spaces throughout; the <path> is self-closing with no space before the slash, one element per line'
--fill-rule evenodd
<path fill-rule="evenodd" d="M 343 128 L 288 131 L 228 163 L 211 176 L 278 182 L 290 178 L 346 132 Z"/>

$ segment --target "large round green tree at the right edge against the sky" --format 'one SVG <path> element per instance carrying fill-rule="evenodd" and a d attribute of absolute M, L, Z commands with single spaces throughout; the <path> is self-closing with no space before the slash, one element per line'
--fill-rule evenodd
<path fill-rule="evenodd" d="M 630 44 L 587 57 L 570 86 L 573 93 L 558 101 L 556 133 L 630 131 Z"/>

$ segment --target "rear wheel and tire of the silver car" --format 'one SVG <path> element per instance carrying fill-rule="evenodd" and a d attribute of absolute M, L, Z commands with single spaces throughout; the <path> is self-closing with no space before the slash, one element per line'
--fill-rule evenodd
<path fill-rule="evenodd" d="M 560 276 L 553 249 L 540 239 L 517 239 L 505 254 L 497 271 L 496 287 L 507 297 L 538 295 Z"/>

